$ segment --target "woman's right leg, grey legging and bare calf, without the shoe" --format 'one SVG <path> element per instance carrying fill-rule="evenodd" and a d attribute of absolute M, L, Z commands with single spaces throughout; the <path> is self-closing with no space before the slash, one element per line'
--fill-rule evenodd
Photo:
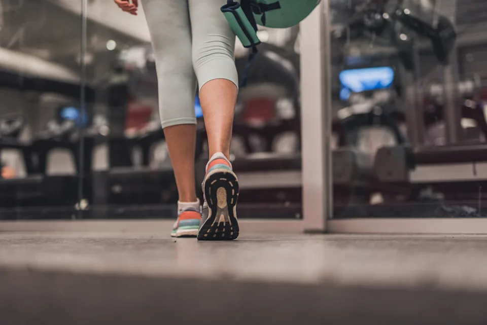
<path fill-rule="evenodd" d="M 235 35 L 220 11 L 221 0 L 189 0 L 193 66 L 208 135 L 210 158 L 230 155 L 238 76 Z"/>

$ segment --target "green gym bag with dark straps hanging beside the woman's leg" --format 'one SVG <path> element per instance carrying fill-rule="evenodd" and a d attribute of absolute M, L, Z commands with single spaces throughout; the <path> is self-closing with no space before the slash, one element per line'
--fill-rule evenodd
<path fill-rule="evenodd" d="M 221 8 L 235 35 L 246 48 L 252 48 L 240 87 L 245 87 L 252 60 L 257 54 L 257 25 L 288 28 L 299 24 L 321 0 L 228 0 Z"/>

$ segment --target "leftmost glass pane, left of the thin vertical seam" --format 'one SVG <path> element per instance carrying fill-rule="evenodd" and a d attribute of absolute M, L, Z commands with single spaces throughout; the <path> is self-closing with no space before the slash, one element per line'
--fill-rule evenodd
<path fill-rule="evenodd" d="M 0 219 L 71 219 L 78 202 L 81 15 L 0 1 Z"/>

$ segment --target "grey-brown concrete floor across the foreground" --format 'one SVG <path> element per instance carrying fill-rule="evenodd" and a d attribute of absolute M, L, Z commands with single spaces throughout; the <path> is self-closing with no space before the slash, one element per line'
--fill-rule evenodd
<path fill-rule="evenodd" d="M 486 250 L 487 236 L 3 233 L 0 323 L 485 324 Z"/>

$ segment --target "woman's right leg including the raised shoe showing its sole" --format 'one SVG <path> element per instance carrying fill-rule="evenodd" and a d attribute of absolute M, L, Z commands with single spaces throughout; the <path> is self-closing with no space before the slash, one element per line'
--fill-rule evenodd
<path fill-rule="evenodd" d="M 235 212 L 238 181 L 228 160 L 238 83 L 233 56 L 235 36 L 220 11 L 221 0 L 188 3 L 193 67 L 210 149 L 198 239 L 231 240 L 239 232 Z"/>

